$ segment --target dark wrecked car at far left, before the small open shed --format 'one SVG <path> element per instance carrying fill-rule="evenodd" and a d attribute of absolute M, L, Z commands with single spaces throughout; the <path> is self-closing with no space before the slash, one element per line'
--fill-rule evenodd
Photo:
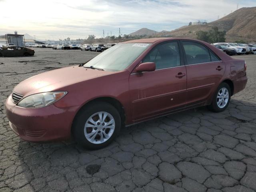
<path fill-rule="evenodd" d="M 35 51 L 21 46 L 0 47 L 0 57 L 32 56 Z"/>

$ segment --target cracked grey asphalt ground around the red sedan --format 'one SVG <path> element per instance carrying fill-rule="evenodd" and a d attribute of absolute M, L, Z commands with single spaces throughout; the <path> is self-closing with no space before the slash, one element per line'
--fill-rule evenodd
<path fill-rule="evenodd" d="M 4 103 L 20 81 L 81 64 L 96 52 L 35 48 L 33 57 L 0 58 L 1 192 L 256 191 L 256 55 L 248 83 L 226 111 L 205 107 L 123 128 L 108 147 L 88 151 L 73 141 L 38 144 L 9 127 Z"/>

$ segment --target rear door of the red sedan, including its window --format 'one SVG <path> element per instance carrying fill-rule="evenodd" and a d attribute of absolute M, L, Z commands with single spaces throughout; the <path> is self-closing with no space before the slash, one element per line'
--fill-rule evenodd
<path fill-rule="evenodd" d="M 182 40 L 187 72 L 186 105 L 203 104 L 218 87 L 225 64 L 199 42 Z"/>

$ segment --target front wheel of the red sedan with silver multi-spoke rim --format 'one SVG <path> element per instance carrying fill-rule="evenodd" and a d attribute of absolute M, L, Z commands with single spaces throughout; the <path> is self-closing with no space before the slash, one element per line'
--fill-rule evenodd
<path fill-rule="evenodd" d="M 102 117 L 104 117 L 104 114 L 108 114 L 108 116 L 106 116 L 105 121 L 101 121 L 100 123 L 98 122 L 100 121 L 98 113 L 101 112 L 103 113 Z M 94 126 L 92 123 L 89 122 L 89 119 L 91 119 L 91 122 L 93 120 L 95 125 L 96 122 L 98 122 L 98 124 L 100 125 Z M 110 126 L 112 128 L 114 127 L 114 129 L 104 128 L 104 124 L 110 122 L 111 119 L 114 120 L 114 122 L 110 123 Z M 86 127 L 86 124 L 92 125 L 92 127 Z M 93 102 L 82 108 L 80 112 L 76 115 L 72 126 L 72 134 L 75 141 L 79 145 L 89 150 L 96 150 L 108 146 L 118 135 L 118 133 L 120 132 L 120 128 L 121 117 L 118 110 L 114 106 L 106 102 Z M 85 134 L 91 135 L 87 139 Z M 107 137 L 109 136 L 109 138 L 107 138 L 105 135 Z"/>

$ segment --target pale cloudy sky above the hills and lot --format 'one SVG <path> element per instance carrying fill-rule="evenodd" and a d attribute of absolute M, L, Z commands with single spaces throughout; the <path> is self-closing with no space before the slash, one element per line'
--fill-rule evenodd
<path fill-rule="evenodd" d="M 211 22 L 256 0 L 0 0 L 0 35 L 30 34 L 38 40 L 130 34 L 140 28 L 174 30 Z"/>

